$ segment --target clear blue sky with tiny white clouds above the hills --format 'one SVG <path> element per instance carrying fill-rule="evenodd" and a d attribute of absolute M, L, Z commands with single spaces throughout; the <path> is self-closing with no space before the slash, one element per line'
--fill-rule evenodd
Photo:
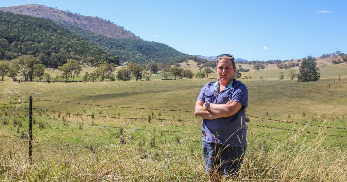
<path fill-rule="evenodd" d="M 192 55 L 266 61 L 347 53 L 347 1 L 16 0 L 0 7 L 24 4 L 100 16 Z"/>

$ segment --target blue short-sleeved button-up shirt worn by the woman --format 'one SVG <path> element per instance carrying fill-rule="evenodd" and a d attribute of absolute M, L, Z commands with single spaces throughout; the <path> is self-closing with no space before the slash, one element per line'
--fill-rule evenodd
<path fill-rule="evenodd" d="M 246 112 L 248 106 L 248 90 L 246 85 L 235 78 L 219 94 L 219 80 L 207 83 L 197 100 L 213 104 L 226 104 L 230 99 L 240 102 L 243 106 L 236 114 L 227 118 L 202 120 L 202 140 L 216 142 L 229 147 L 247 146 Z"/>

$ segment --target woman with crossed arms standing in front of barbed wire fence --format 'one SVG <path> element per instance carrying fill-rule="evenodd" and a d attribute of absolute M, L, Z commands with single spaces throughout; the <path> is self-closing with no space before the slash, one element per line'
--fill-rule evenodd
<path fill-rule="evenodd" d="M 217 57 L 218 80 L 207 83 L 195 104 L 195 115 L 202 120 L 202 147 L 210 181 L 236 174 L 246 150 L 247 87 L 234 78 L 234 57 Z"/>

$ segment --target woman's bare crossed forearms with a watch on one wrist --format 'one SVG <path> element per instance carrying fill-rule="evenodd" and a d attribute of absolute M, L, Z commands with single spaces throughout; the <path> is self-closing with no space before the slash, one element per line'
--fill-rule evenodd
<path fill-rule="evenodd" d="M 201 118 L 213 120 L 218 118 L 226 118 L 234 115 L 242 108 L 242 104 L 232 99 L 226 104 L 212 104 L 206 110 L 203 101 L 196 101 L 194 114 Z"/>

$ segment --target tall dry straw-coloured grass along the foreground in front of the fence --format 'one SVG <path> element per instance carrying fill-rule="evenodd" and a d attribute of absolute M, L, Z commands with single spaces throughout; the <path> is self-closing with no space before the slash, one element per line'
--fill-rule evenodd
<path fill-rule="evenodd" d="M 323 135 L 294 144 L 296 135 L 299 133 L 287 141 L 273 142 L 250 133 L 240 173 L 229 180 L 347 181 L 346 151 L 323 147 Z M 108 146 L 88 150 L 42 144 L 33 164 L 28 163 L 23 144 L 1 144 L 0 177 L 5 181 L 208 181 L 202 153 L 192 152 L 189 147 L 192 144 L 186 143 L 194 137 L 198 141 L 200 136 L 155 147 L 148 134 L 117 149 Z M 310 144 L 304 145 L 307 142 Z M 178 149 L 171 150 L 172 146 Z M 54 156 L 40 156 L 47 152 Z"/>

